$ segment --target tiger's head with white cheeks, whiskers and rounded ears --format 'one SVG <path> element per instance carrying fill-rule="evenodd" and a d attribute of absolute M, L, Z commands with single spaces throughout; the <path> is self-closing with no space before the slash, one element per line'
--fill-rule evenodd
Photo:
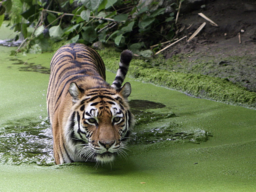
<path fill-rule="evenodd" d="M 75 82 L 69 87 L 73 112 L 65 128 L 69 148 L 80 161 L 107 163 L 115 155 L 125 155 L 125 141 L 134 125 L 127 97 L 130 83 L 122 88 L 90 88 L 84 90 Z M 77 160 L 77 159 L 76 159 Z"/>

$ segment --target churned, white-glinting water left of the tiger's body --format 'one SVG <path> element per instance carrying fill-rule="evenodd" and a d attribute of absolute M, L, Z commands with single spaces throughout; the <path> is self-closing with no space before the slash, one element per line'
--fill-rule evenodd
<path fill-rule="evenodd" d="M 0 162 L 19 165 L 54 165 L 49 122 L 0 128 Z"/>

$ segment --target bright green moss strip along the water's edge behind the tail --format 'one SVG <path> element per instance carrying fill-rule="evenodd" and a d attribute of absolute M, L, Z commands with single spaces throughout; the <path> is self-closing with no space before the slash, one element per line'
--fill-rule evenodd
<path fill-rule="evenodd" d="M 117 53 L 114 49 L 109 50 L 109 48 L 100 50 L 99 53 L 104 60 L 106 69 L 116 72 L 120 53 Z M 133 59 L 127 74 L 138 80 L 179 90 L 191 96 L 256 108 L 255 92 L 250 92 L 239 85 L 218 77 L 158 69 L 157 66 L 164 66 L 164 62 L 162 56 L 151 60 Z M 182 65 L 182 61 L 178 57 L 174 57 L 173 61 L 168 59 L 166 65 L 170 67 L 171 62 L 176 62 L 175 65 L 177 65 L 177 62 Z"/>

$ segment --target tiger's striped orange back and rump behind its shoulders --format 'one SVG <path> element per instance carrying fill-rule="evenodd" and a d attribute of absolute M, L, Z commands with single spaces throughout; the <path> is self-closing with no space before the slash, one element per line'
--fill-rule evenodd
<path fill-rule="evenodd" d="M 68 83 L 81 81 L 88 75 L 106 80 L 105 65 L 99 54 L 84 44 L 72 43 L 61 47 L 53 55 L 50 67 L 51 74 L 47 90 L 50 123 L 52 123 L 54 111 L 58 109 L 62 101 L 61 97 L 64 96 L 65 99 L 66 96 L 70 96 L 67 94 Z"/>

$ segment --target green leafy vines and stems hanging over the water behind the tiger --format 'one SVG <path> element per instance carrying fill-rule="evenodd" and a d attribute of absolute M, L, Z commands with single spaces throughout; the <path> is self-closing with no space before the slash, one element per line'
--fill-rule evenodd
<path fill-rule="evenodd" d="M 60 40 L 87 45 L 99 41 L 113 42 L 120 49 L 128 48 L 137 55 L 150 57 L 159 49 L 149 49 L 150 46 L 170 41 L 175 35 L 174 12 L 166 14 L 165 8 L 152 11 L 136 0 L 69 0 L 62 4 L 53 0 L 17 1 L 23 4 L 23 22 L 14 23 L 14 28 L 23 41 L 16 53 L 29 49 L 45 51 L 51 42 Z M 7 13 L 11 10 L 10 2 L 3 3 L 9 4 Z"/>

